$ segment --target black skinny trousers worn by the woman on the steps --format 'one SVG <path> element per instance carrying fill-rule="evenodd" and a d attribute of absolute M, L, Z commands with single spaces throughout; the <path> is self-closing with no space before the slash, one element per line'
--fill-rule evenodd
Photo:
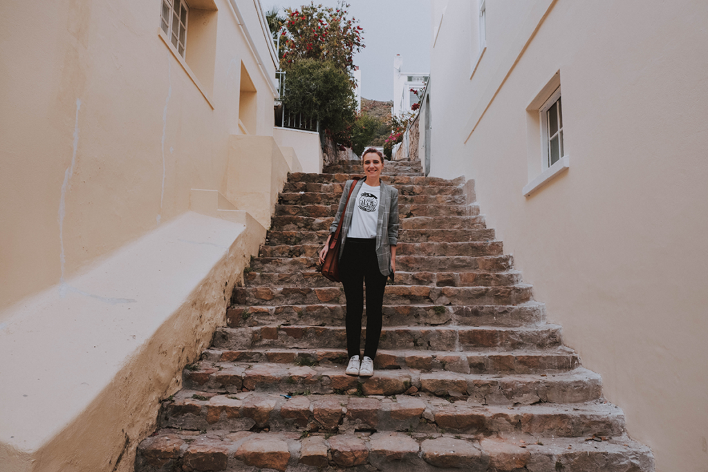
<path fill-rule="evenodd" d="M 347 297 L 347 352 L 361 354 L 361 318 L 364 311 L 366 281 L 366 343 L 364 355 L 374 359 L 381 337 L 382 313 L 386 276 L 379 271 L 376 239 L 347 238 L 339 261 L 339 278 Z M 360 359 L 363 359 L 360 357 Z"/>

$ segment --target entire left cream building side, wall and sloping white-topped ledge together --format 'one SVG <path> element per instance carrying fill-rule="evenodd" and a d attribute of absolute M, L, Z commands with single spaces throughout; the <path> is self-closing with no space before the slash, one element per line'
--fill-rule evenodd
<path fill-rule="evenodd" d="M 2 471 L 132 470 L 300 167 L 260 3 L 188 4 L 0 3 Z"/>

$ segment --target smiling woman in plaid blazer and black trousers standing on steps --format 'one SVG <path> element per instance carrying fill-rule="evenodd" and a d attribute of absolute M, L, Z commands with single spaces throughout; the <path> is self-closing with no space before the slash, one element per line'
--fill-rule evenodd
<path fill-rule="evenodd" d="M 346 373 L 370 377 L 374 374 L 374 358 L 379 347 L 382 326 L 382 306 L 386 277 L 396 272 L 398 241 L 398 190 L 381 181 L 384 156 L 376 149 L 362 155 L 365 180 L 347 180 L 336 217 L 329 228 L 329 237 L 319 252 L 319 262 L 329 249 L 352 185 L 355 188 L 342 222 L 342 243 L 339 253 L 339 277 L 347 298 L 346 333 L 349 364 Z M 366 284 L 366 343 L 360 357 L 361 319 L 364 310 Z M 361 360 L 360 360 L 361 359 Z"/>

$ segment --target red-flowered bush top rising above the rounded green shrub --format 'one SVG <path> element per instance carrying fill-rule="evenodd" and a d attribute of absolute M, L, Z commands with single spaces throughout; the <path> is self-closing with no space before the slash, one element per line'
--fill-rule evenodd
<path fill-rule="evenodd" d="M 348 4 L 339 2 L 336 8 L 303 5 L 293 10 L 286 8 L 285 30 L 280 43 L 285 46 L 282 54 L 282 68 L 290 70 L 290 65 L 298 59 L 317 59 L 332 62 L 338 69 L 350 72 L 353 55 L 364 47 L 364 30 L 356 18 L 347 18 Z"/>

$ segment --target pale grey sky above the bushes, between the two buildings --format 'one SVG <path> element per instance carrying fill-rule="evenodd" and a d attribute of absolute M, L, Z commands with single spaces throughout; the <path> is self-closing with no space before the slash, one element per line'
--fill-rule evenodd
<path fill-rule="evenodd" d="M 364 28 L 366 46 L 354 55 L 361 70 L 361 96 L 371 100 L 393 100 L 394 57 L 403 57 L 404 72 L 430 71 L 430 0 L 349 0 L 349 17 Z M 274 6 L 299 8 L 305 0 L 261 0 L 264 11 Z M 336 6 L 336 0 L 319 0 L 315 5 Z"/>

